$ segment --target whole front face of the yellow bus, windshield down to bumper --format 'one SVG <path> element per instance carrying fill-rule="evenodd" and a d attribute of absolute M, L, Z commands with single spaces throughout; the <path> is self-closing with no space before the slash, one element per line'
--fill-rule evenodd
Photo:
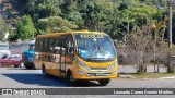
<path fill-rule="evenodd" d="M 117 77 L 118 60 L 114 42 L 107 34 L 74 34 L 75 79 L 98 81 L 106 85 Z"/>

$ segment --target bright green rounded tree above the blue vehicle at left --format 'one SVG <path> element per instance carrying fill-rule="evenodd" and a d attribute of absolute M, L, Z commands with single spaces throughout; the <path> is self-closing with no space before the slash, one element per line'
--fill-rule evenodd
<path fill-rule="evenodd" d="M 18 35 L 22 40 L 32 39 L 35 36 L 35 26 L 30 15 L 24 15 L 18 23 Z"/>

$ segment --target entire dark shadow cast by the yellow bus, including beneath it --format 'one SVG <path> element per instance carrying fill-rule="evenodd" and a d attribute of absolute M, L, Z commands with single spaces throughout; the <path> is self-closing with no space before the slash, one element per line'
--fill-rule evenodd
<path fill-rule="evenodd" d="M 43 74 L 26 74 L 26 73 L 9 73 L 2 74 L 18 83 L 27 85 L 49 86 L 49 87 L 94 87 L 101 86 L 95 82 L 80 81 L 75 85 L 70 86 L 65 78 L 59 78 L 56 76 L 44 76 Z"/>

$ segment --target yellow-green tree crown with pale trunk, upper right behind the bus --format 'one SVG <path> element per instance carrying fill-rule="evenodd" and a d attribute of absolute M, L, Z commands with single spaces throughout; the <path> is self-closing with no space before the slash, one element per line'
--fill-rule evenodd
<path fill-rule="evenodd" d="M 129 35 L 138 26 L 149 24 L 158 14 L 158 9 L 151 7 L 128 8 L 120 12 L 119 24 L 124 35 Z"/>

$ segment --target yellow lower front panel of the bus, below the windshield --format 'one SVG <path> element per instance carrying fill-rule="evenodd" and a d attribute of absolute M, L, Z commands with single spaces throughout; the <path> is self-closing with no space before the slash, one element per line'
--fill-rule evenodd
<path fill-rule="evenodd" d="M 81 60 L 80 58 L 78 58 L 79 60 Z M 117 71 L 118 70 L 118 65 L 114 66 L 110 70 L 107 70 L 108 66 L 110 66 L 112 64 L 114 64 L 115 62 L 117 62 L 117 58 L 114 61 L 110 62 L 85 62 L 82 60 L 82 62 L 84 62 L 89 68 L 91 68 L 91 70 L 84 70 L 83 68 L 79 66 L 77 62 L 74 62 L 75 66 L 72 72 L 73 72 L 73 76 L 77 79 L 101 79 L 101 78 L 116 78 L 117 77 Z M 83 72 L 85 72 L 86 74 L 80 74 L 78 72 L 78 70 L 81 70 Z M 114 72 L 114 73 L 113 73 Z M 106 76 L 97 76 L 96 74 L 109 74 Z M 110 74 L 112 73 L 112 74 Z"/>

